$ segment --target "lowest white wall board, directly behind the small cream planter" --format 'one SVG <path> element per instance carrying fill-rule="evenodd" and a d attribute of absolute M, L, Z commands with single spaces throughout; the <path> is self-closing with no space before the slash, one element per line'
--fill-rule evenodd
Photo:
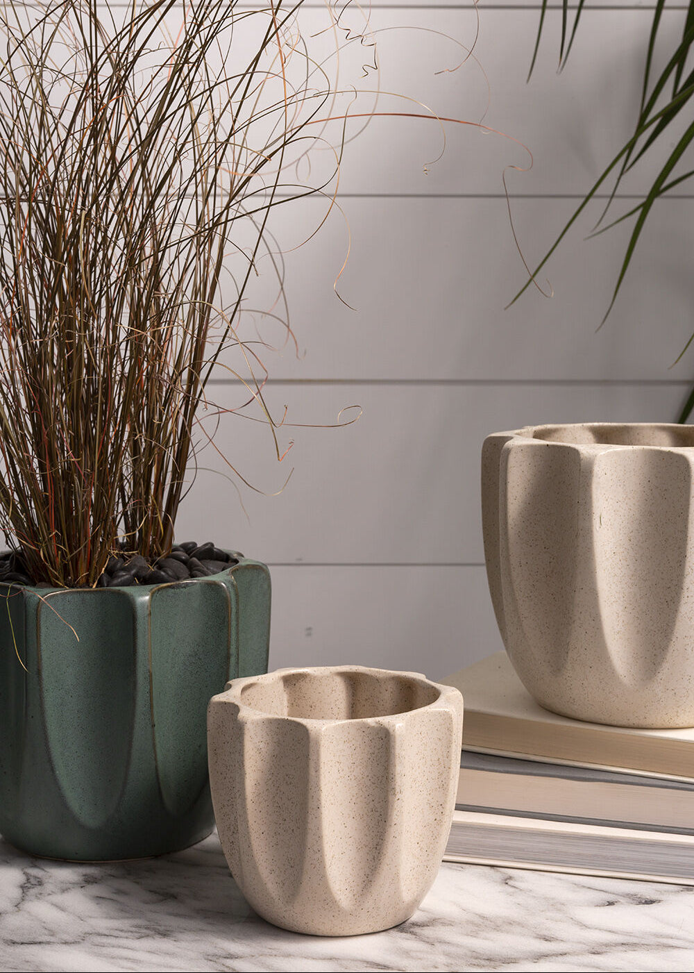
<path fill-rule="evenodd" d="M 270 668 L 350 664 L 442 679 L 503 648 L 483 567 L 270 573 Z"/>

